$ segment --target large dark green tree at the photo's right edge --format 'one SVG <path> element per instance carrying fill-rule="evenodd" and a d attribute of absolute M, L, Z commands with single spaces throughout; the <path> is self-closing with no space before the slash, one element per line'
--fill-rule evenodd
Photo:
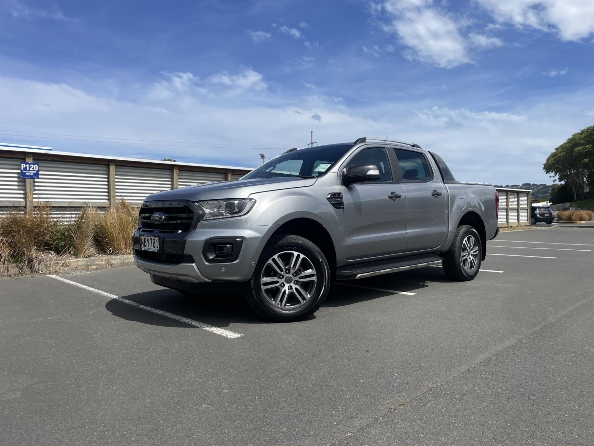
<path fill-rule="evenodd" d="M 584 187 L 594 177 L 594 125 L 574 133 L 548 156 L 544 171 L 564 181 L 573 200 L 584 199 Z"/>

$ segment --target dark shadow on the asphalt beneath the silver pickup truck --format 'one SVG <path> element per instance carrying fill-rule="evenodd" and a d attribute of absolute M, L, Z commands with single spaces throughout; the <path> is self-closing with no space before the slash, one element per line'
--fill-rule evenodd
<path fill-rule="evenodd" d="M 322 307 L 347 306 L 394 296 L 394 293 L 391 291 L 405 291 L 416 294 L 430 286 L 431 282 L 449 282 L 449 279 L 445 277 L 441 268 L 422 268 L 368 279 L 346 281 L 343 283 L 337 282 L 330 288 L 330 293 Z M 382 288 L 388 291 L 371 290 L 366 287 Z M 411 296 L 402 294 L 402 297 Z M 228 327 L 234 323 L 257 323 L 264 325 L 276 323 L 266 321 L 266 319 L 256 315 L 249 307 L 239 287 L 236 291 L 226 287 L 222 288 L 220 292 L 210 291 L 192 297 L 184 296 L 175 290 L 163 288 L 161 290 L 130 294 L 128 296 L 122 296 L 122 298 L 221 328 Z M 184 322 L 129 305 L 118 299 L 109 300 L 105 307 L 112 315 L 126 319 L 127 321 L 175 328 L 196 328 Z M 312 315 L 309 319 L 301 323 L 307 323 L 314 319 L 315 315 Z"/>

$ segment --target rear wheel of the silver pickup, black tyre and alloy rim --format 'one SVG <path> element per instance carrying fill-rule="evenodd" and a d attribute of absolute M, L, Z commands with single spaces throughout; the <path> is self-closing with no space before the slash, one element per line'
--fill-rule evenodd
<path fill-rule="evenodd" d="M 476 277 L 481 268 L 481 237 L 475 228 L 461 225 L 457 228 L 450 249 L 444 254 L 441 265 L 452 280 L 467 281 Z"/>

